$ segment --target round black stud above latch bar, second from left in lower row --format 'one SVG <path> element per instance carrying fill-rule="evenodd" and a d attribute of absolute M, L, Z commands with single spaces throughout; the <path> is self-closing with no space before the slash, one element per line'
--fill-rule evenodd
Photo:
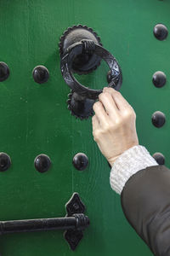
<path fill-rule="evenodd" d="M 47 154 L 39 154 L 34 160 L 34 166 L 38 172 L 47 172 L 51 166 L 51 160 Z"/>

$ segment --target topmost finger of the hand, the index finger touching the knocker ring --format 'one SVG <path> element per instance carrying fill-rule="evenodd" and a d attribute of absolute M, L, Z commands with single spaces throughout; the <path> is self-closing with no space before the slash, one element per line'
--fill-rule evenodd
<path fill-rule="evenodd" d="M 117 108 L 119 108 L 119 110 L 124 110 L 124 109 L 127 109 L 127 108 L 132 108 L 132 106 L 125 100 L 125 98 L 122 96 L 122 94 L 111 88 L 111 87 L 105 87 L 104 92 L 108 92 L 111 94 L 114 102 L 116 103 L 116 106 Z"/>

